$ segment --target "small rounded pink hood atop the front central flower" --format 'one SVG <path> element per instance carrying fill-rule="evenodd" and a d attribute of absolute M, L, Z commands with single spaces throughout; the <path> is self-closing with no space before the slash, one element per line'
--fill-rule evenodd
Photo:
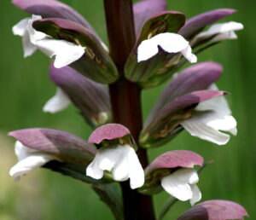
<path fill-rule="evenodd" d="M 91 133 L 88 142 L 99 144 L 103 140 L 113 140 L 130 134 L 130 130 L 122 124 L 104 124 Z"/>

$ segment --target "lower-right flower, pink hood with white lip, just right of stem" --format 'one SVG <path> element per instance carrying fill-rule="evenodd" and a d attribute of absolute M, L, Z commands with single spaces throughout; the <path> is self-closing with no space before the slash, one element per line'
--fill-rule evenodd
<path fill-rule="evenodd" d="M 145 170 L 144 194 L 158 193 L 164 189 L 177 200 L 190 200 L 191 206 L 201 200 L 201 191 L 195 165 L 203 165 L 202 157 L 188 150 L 174 150 L 161 154 Z M 161 186 L 161 188 L 160 188 Z"/>

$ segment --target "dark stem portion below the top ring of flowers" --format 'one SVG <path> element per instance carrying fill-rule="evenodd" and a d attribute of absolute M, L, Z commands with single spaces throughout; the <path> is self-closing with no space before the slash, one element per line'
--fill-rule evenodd
<path fill-rule="evenodd" d="M 137 142 L 142 128 L 141 90 L 137 84 L 121 79 L 111 84 L 113 120 L 124 124 Z M 143 167 L 148 165 L 147 152 L 143 148 L 137 151 Z M 151 196 L 139 194 L 132 190 L 129 182 L 121 182 L 125 220 L 154 220 L 154 206 Z"/>

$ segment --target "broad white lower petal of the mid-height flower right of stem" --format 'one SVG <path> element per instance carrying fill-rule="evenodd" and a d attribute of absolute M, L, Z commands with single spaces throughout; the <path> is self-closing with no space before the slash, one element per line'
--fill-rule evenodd
<path fill-rule="evenodd" d="M 230 116 L 232 117 L 232 116 Z M 227 130 L 227 127 L 235 126 L 234 120 L 213 111 L 192 114 L 190 119 L 186 119 L 181 124 L 191 136 L 197 136 L 208 142 L 224 145 L 230 140 L 230 136 L 218 130 Z M 230 131 L 230 130 L 227 130 Z"/>

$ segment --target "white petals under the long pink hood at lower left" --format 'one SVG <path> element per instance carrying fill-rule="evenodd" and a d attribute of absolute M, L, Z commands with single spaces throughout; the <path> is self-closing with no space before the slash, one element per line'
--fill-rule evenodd
<path fill-rule="evenodd" d="M 59 160 L 53 155 L 43 153 L 32 148 L 27 148 L 21 142 L 15 142 L 15 154 L 18 158 L 18 163 L 14 165 L 9 175 L 15 178 L 15 181 L 20 180 L 20 177 L 26 175 L 28 172 L 45 165 L 50 160 Z"/>

